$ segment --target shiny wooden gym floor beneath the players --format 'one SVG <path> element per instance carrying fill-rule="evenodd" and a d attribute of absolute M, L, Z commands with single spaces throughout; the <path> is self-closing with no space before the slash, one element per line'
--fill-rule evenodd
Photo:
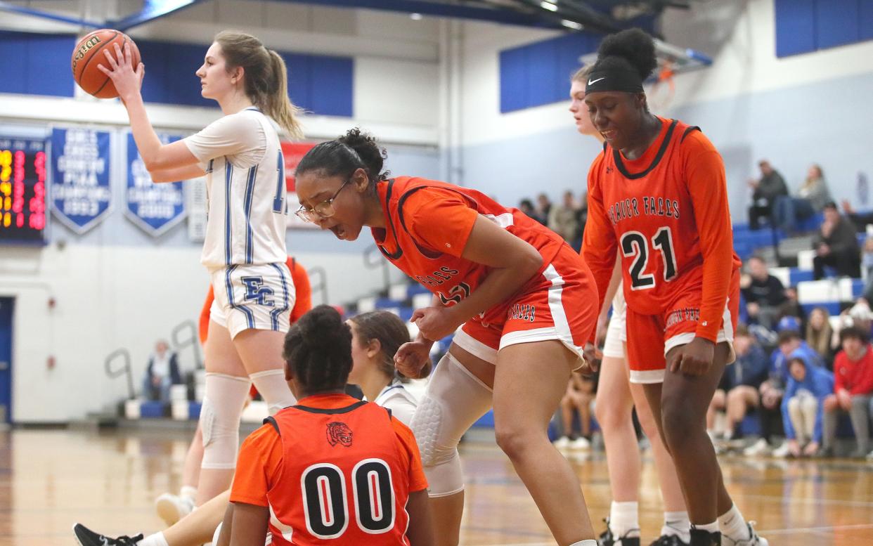
<path fill-rule="evenodd" d="M 75 544 L 73 522 L 110 535 L 161 529 L 153 500 L 180 486 L 189 433 L 0 432 L 0 546 Z M 552 545 L 536 507 L 496 447 L 462 447 L 468 479 L 462 544 Z M 609 484 L 603 454 L 571 455 L 600 532 Z M 771 546 L 873 545 L 873 464 L 722 457 L 725 481 Z M 660 529 L 646 454 L 643 544 Z"/>

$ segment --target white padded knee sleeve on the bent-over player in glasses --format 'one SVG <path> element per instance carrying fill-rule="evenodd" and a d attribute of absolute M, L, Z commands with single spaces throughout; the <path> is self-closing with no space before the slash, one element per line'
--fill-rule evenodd
<path fill-rule="evenodd" d="M 412 418 L 432 497 L 464 489 L 457 442 L 491 407 L 491 389 L 446 354 L 436 365 Z"/>

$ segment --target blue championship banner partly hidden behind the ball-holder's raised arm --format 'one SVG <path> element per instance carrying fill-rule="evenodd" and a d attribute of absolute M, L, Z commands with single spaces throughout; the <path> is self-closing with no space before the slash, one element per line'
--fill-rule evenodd
<path fill-rule="evenodd" d="M 158 135 L 162 143 L 179 140 L 178 136 Z M 185 217 L 182 182 L 155 183 L 136 149 L 133 133 L 127 134 L 127 188 L 124 215 L 140 229 L 156 237 Z"/>

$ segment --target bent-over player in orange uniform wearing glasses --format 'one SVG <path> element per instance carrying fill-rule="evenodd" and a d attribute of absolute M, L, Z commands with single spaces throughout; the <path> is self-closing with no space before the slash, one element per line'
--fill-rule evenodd
<path fill-rule="evenodd" d="M 484 194 L 382 172 L 385 152 L 358 129 L 297 167 L 298 215 L 354 240 L 365 226 L 391 263 L 434 297 L 415 341 L 395 355 L 416 377 L 434 341 L 455 333 L 412 420 L 440 546 L 459 542 L 464 477 L 457 442 L 494 407 L 498 445 L 561 546 L 596 546 L 579 481 L 546 427 L 595 331 L 594 281 L 552 231 Z"/>

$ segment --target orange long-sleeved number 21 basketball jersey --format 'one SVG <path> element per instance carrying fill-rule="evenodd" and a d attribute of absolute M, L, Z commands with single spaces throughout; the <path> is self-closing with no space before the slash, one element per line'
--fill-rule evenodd
<path fill-rule="evenodd" d="M 714 341 L 740 265 L 725 167 L 698 127 L 659 119 L 661 132 L 641 157 L 604 145 L 592 164 L 582 254 L 603 294 L 618 250 L 625 299 L 640 314 L 700 292 L 697 335 Z"/>

